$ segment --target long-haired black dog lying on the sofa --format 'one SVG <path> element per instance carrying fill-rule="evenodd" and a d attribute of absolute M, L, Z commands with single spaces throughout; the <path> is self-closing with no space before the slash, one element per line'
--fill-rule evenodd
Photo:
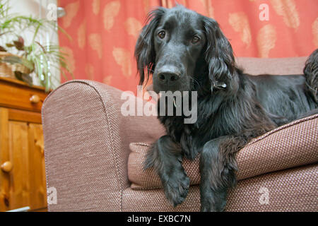
<path fill-rule="evenodd" d="M 201 210 L 222 211 L 227 190 L 235 185 L 235 153 L 252 138 L 317 113 L 310 112 L 317 108 L 317 50 L 305 76 L 249 76 L 235 66 L 216 20 L 183 6 L 149 14 L 135 55 L 141 84 L 152 75 L 157 93 L 197 91 L 197 121 L 159 116 L 167 135 L 153 144 L 145 162 L 145 169 L 158 172 L 174 206 L 189 189 L 182 157 L 201 154 Z"/>

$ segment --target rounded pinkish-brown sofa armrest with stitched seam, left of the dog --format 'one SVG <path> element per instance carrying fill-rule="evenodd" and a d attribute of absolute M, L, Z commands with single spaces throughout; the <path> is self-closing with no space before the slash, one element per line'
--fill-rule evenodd
<path fill-rule="evenodd" d="M 124 117 L 122 91 L 94 81 L 69 81 L 42 107 L 49 211 L 122 210 L 129 186 L 129 143 L 163 134 L 155 117 Z M 158 128 L 158 129 L 153 129 Z"/>

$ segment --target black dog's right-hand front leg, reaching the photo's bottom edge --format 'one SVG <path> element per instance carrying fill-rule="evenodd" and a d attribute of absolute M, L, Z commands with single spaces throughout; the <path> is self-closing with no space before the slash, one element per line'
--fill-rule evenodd
<path fill-rule="evenodd" d="M 223 211 L 228 188 L 235 185 L 235 153 L 242 145 L 228 136 L 208 141 L 200 156 L 201 211 Z"/>

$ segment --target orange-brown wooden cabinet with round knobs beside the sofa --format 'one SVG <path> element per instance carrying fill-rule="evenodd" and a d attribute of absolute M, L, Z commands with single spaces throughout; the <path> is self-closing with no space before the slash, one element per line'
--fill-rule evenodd
<path fill-rule="evenodd" d="M 45 210 L 44 142 L 40 87 L 0 77 L 0 211 Z"/>

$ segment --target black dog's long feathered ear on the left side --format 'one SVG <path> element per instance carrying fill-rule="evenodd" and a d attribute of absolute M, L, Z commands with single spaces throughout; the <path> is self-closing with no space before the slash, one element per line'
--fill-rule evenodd
<path fill-rule="evenodd" d="M 155 47 L 153 44 L 153 32 L 157 28 L 160 19 L 165 14 L 165 8 L 157 8 L 151 11 L 141 34 L 138 37 L 135 47 L 135 57 L 137 61 L 137 70 L 140 76 L 139 85 L 142 85 L 155 69 Z"/>

